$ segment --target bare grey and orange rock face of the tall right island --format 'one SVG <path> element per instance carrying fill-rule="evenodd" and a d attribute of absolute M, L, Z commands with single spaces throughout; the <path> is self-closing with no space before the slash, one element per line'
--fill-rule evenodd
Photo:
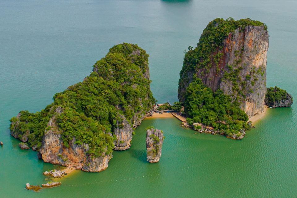
<path fill-rule="evenodd" d="M 213 91 L 220 88 L 233 99 L 239 99 L 241 109 L 248 117 L 263 111 L 268 37 L 264 25 L 247 25 L 230 32 L 222 44 L 211 53 L 209 68 L 201 68 L 197 64 L 195 68 L 181 71 L 180 101 L 185 101 L 186 88 L 192 82 L 193 74 L 196 74 L 203 84 Z M 220 55 L 219 60 L 216 55 Z M 184 62 L 184 65 L 187 64 L 189 63 Z"/>

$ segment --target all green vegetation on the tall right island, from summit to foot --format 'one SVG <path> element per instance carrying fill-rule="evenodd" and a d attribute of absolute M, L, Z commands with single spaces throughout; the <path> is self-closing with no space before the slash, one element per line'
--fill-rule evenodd
<path fill-rule="evenodd" d="M 253 92 L 248 82 L 252 77 L 251 84 L 255 84 L 258 78 L 253 74 L 256 72 L 257 75 L 263 76 L 262 68 L 258 71 L 253 69 L 250 74 L 246 75 L 246 78 L 241 78 L 239 73 L 243 69 L 241 56 L 244 49 L 235 51 L 237 59 L 233 65 L 228 65 L 228 71 L 225 71 L 221 79 L 232 82 L 232 96 L 223 94 L 220 89 L 213 93 L 210 88 L 203 85 L 201 79 L 196 77 L 196 73 L 199 69 L 203 69 L 199 72 L 202 72 L 200 75 L 204 75 L 214 67 L 218 74 L 222 69 L 220 62 L 224 55 L 222 53 L 224 40 L 228 36 L 232 37 L 236 29 L 243 32 L 249 25 L 264 26 L 264 29 L 267 29 L 266 24 L 251 19 L 228 18 L 224 20 L 217 18 L 203 30 L 196 48 L 188 47 L 180 72 L 179 98 L 184 102 L 189 124 L 202 123 L 206 126 L 213 126 L 215 130 L 225 131 L 227 135 L 238 133 L 240 129 L 248 129 L 248 116 L 240 109 L 240 102 L 245 99 L 248 93 Z"/>

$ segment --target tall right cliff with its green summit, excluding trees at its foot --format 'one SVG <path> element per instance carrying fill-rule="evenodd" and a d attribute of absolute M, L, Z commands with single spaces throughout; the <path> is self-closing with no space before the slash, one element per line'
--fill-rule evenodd
<path fill-rule="evenodd" d="M 248 117 L 263 111 L 269 46 L 265 24 L 251 19 L 214 19 L 197 47 L 185 55 L 178 97 L 185 101 L 187 86 L 196 74 L 213 91 L 221 89 L 240 103 Z"/>

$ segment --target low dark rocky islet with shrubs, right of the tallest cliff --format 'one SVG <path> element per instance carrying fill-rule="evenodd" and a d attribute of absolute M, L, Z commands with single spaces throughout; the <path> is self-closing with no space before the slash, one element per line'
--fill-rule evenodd
<path fill-rule="evenodd" d="M 267 88 L 267 94 L 265 97 L 265 105 L 270 107 L 290 107 L 293 104 L 293 97 L 278 87 Z"/>

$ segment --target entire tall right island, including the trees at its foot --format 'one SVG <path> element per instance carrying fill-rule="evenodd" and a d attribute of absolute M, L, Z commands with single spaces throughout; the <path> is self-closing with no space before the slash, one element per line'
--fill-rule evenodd
<path fill-rule="evenodd" d="M 178 97 L 189 125 L 243 138 L 248 119 L 264 110 L 268 38 L 267 26 L 251 19 L 217 18 L 206 26 L 180 72 Z"/>

